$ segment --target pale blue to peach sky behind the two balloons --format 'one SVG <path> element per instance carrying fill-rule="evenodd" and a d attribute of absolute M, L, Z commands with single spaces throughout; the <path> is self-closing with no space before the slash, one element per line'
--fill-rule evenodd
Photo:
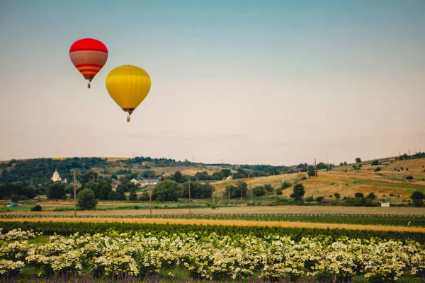
<path fill-rule="evenodd" d="M 425 1 L 0 1 L 0 160 L 354 162 L 425 151 Z M 108 47 L 87 88 L 69 59 Z M 152 80 L 131 122 L 105 80 Z"/>

